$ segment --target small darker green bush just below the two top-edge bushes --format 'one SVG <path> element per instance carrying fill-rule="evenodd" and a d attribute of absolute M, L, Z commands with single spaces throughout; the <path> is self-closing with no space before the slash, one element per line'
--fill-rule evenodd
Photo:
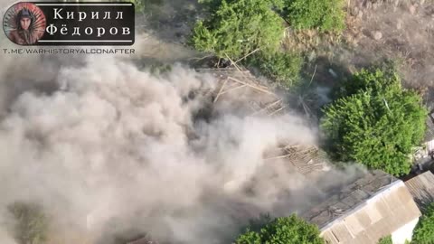
<path fill-rule="evenodd" d="M 298 53 L 287 52 L 270 57 L 259 56 L 252 63 L 269 79 L 277 81 L 284 88 L 291 88 L 300 80 L 303 58 Z"/>

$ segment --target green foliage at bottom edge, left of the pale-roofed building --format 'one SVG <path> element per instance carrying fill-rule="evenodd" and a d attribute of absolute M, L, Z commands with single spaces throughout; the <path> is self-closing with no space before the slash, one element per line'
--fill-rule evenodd
<path fill-rule="evenodd" d="M 318 228 L 292 215 L 270 221 L 260 230 L 247 230 L 235 241 L 236 244 L 323 244 Z"/>

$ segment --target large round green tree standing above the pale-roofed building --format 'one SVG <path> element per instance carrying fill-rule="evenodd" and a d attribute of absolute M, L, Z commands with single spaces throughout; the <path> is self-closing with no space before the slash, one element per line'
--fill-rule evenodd
<path fill-rule="evenodd" d="M 420 96 L 381 70 L 355 74 L 342 94 L 325 108 L 321 122 L 331 153 L 389 174 L 408 174 L 412 149 L 425 132 Z"/>

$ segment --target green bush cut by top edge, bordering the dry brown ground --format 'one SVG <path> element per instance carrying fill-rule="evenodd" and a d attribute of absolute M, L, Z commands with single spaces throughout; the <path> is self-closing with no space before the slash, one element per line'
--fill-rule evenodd
<path fill-rule="evenodd" d="M 343 0 L 286 0 L 284 13 L 296 29 L 341 31 L 345 27 Z"/>

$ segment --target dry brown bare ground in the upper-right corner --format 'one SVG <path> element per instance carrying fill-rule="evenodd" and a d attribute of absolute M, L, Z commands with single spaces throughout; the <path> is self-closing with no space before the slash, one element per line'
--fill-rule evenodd
<path fill-rule="evenodd" d="M 404 85 L 432 89 L 434 1 L 348 0 L 347 3 L 348 28 L 342 42 L 323 47 L 328 48 L 325 61 L 329 66 L 354 71 L 392 59 L 401 63 Z"/>

